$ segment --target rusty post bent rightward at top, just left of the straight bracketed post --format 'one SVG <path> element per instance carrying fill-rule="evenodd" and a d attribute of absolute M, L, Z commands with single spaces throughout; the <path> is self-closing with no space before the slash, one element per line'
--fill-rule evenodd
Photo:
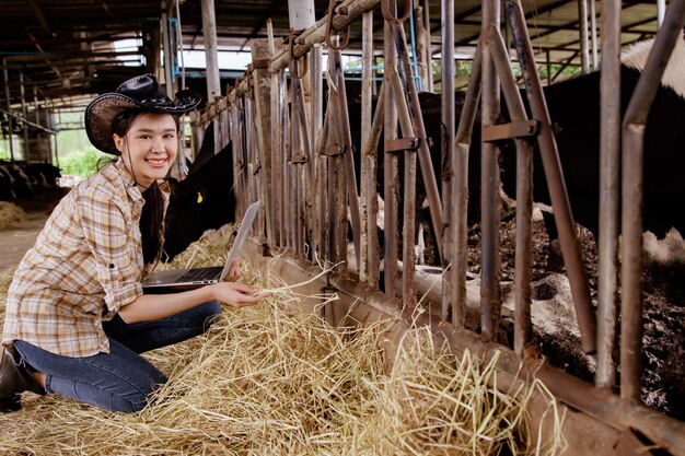
<path fill-rule="evenodd" d="M 477 106 L 480 101 L 480 75 L 483 69 L 483 45 L 478 42 L 468 86 L 464 96 L 464 106 L 460 116 L 460 124 L 455 136 L 455 150 L 452 159 L 452 169 L 454 172 L 452 191 L 454 198 L 453 222 L 450 225 L 450 234 L 454 241 L 453 264 L 448 270 L 448 280 L 454 285 L 452 302 L 452 324 L 457 328 L 463 328 L 466 321 L 466 267 L 468 266 L 468 152 L 471 149 L 471 135 L 474 130 Z M 479 195 L 473 195 L 479 198 Z M 444 304 L 444 301 L 443 301 Z M 442 309 L 442 318 L 446 320 L 449 309 Z"/>

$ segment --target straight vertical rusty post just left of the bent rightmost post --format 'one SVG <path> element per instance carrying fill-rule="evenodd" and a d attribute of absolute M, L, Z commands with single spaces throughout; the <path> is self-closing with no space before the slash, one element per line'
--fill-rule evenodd
<path fill-rule="evenodd" d="M 616 383 L 618 175 L 620 169 L 620 0 L 602 0 L 600 81 L 600 234 L 597 239 L 597 371 L 595 385 Z"/>

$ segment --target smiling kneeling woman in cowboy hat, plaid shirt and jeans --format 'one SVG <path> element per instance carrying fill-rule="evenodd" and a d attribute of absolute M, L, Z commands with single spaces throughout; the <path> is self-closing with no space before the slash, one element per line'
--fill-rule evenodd
<path fill-rule="evenodd" d="M 139 353 L 205 332 L 219 302 L 254 305 L 253 287 L 221 282 L 175 294 L 143 294 L 159 261 L 169 201 L 167 175 L 178 152 L 178 118 L 200 102 L 172 102 L 151 74 L 96 97 L 85 130 L 118 155 L 77 185 L 22 259 L 7 299 L 0 410 L 20 394 L 57 393 L 113 411 L 133 412 L 166 377 Z M 233 265 L 229 280 L 240 276 Z"/>

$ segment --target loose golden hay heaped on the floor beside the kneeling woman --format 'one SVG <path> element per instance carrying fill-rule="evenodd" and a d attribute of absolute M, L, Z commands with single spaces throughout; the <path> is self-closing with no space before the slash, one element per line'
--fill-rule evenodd
<path fill-rule="evenodd" d="M 207 239 L 176 265 L 225 252 Z M 211 260 L 211 261 L 209 261 Z M 247 281 L 271 278 L 245 271 Z M 0 292 L 10 277 L 0 278 Z M 0 296 L 2 297 L 2 296 Z M 205 336 L 146 354 L 170 376 L 155 400 L 117 414 L 54 395 L 0 416 L 0 453 L 31 455 L 558 454 L 536 448 L 526 402 L 486 386 L 492 365 L 449 355 L 425 330 L 382 372 L 382 324 L 334 329 L 280 293 L 230 309 Z M 542 390 L 538 385 L 534 389 Z M 550 401 L 550 420 L 559 428 Z M 560 439 L 560 432 L 554 433 Z"/>

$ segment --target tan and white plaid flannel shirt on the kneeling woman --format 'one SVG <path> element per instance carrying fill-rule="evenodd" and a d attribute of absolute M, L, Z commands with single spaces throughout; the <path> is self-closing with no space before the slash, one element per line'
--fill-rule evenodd
<path fill-rule="evenodd" d="M 142 294 L 138 226 L 144 199 L 121 160 L 79 183 L 22 259 L 7 297 L 3 344 L 66 356 L 109 352 L 102 321 Z M 164 207 L 169 186 L 162 184 Z"/>

